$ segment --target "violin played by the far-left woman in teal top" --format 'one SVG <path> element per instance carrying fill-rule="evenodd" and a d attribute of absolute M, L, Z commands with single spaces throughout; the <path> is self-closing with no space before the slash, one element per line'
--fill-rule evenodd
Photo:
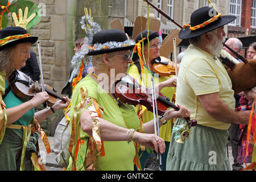
<path fill-rule="evenodd" d="M 42 92 L 42 86 L 38 81 L 32 81 L 29 76 L 18 70 L 14 70 L 9 77 L 9 82 L 15 96 L 22 100 L 30 100 L 36 93 Z M 49 94 L 48 106 L 53 106 L 57 102 L 57 98 L 66 102 L 63 97 L 56 93 L 56 89 L 51 86 L 45 84 L 45 90 Z"/>

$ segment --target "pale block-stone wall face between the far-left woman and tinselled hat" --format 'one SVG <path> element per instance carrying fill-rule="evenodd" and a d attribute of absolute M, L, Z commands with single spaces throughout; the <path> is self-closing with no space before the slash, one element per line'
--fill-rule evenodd
<path fill-rule="evenodd" d="M 36 5 L 45 5 L 46 13 L 42 14 L 41 22 L 29 31 L 31 35 L 38 36 L 41 42 L 44 82 L 60 93 L 69 74 L 69 62 L 73 53 L 76 1 L 31 1 Z M 37 44 L 32 46 L 32 50 L 38 55 Z"/>

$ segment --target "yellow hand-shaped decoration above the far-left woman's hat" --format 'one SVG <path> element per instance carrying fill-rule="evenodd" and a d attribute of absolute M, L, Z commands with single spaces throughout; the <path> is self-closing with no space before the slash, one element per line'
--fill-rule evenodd
<path fill-rule="evenodd" d="M 18 27 L 22 27 L 22 28 L 25 28 L 27 29 L 27 24 L 30 23 L 30 21 L 35 18 L 36 16 L 36 13 L 33 13 L 32 15 L 30 15 L 30 17 L 27 18 L 27 14 L 28 14 L 28 7 L 26 7 L 25 11 L 24 11 L 24 17 L 23 17 L 23 13 L 22 13 L 22 9 L 19 9 L 19 20 L 17 18 L 17 15 L 16 13 L 13 13 L 12 16 L 13 16 L 13 20 L 14 20 L 14 23 L 15 23 L 15 26 L 18 26 Z"/>

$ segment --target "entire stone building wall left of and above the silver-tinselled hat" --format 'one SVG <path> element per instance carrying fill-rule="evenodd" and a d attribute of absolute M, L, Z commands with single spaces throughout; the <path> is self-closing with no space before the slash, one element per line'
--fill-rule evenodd
<path fill-rule="evenodd" d="M 81 16 L 84 7 L 92 10 L 94 21 L 102 30 L 110 28 L 110 22 L 125 17 L 125 0 L 30 0 L 36 5 L 45 5 L 46 13 L 41 22 L 29 32 L 38 36 L 41 42 L 41 56 L 44 82 L 54 87 L 60 94 L 69 77 L 70 62 L 74 54 L 73 42 L 84 38 L 81 30 Z M 44 8 L 44 7 L 42 7 Z M 38 45 L 32 50 L 38 55 Z M 38 60 L 39 61 L 39 60 Z"/>

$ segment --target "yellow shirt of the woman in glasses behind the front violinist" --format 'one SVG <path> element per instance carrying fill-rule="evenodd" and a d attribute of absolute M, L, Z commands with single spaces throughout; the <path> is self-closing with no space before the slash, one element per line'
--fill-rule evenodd
<path fill-rule="evenodd" d="M 138 68 L 135 64 L 130 65 L 129 70 L 128 70 L 128 75 L 130 75 L 131 77 L 133 77 L 135 80 L 137 80 L 137 82 L 140 85 L 143 86 L 150 86 L 151 87 L 151 73 L 148 70 L 148 68 L 146 66 L 144 66 L 144 72 L 142 73 L 142 78 L 139 75 L 139 71 Z M 171 77 L 171 76 L 170 76 Z M 160 82 L 166 81 L 168 80 L 167 76 L 164 77 L 158 77 L 158 76 L 154 76 L 154 84 L 157 85 Z M 156 88 L 157 89 L 157 88 Z M 164 96 L 167 96 L 170 98 L 170 100 L 172 100 L 172 97 L 174 96 L 174 87 L 165 87 L 162 90 L 160 90 L 160 92 L 162 94 L 164 94 Z M 138 111 L 139 107 L 136 106 L 135 109 Z M 170 108 L 171 109 L 171 108 Z M 151 121 L 152 119 L 154 119 L 154 114 L 151 111 L 148 111 L 147 109 L 144 111 L 144 113 L 142 114 L 142 121 L 143 123 L 146 123 L 148 121 Z M 160 131 L 160 137 L 163 138 L 165 141 L 170 142 L 171 140 L 171 132 L 172 132 L 172 122 L 171 119 L 167 122 L 166 125 L 163 125 L 159 128 Z"/>

